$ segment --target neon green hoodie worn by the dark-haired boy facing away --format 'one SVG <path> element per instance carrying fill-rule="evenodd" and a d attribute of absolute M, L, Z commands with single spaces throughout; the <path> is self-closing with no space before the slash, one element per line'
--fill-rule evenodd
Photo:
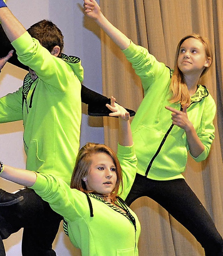
<path fill-rule="evenodd" d="M 12 45 L 34 70 L 23 87 L 0 99 L 0 122 L 23 120 L 26 169 L 61 177 L 68 184 L 79 149 L 83 68 L 80 59 L 53 56 L 28 32 Z"/>

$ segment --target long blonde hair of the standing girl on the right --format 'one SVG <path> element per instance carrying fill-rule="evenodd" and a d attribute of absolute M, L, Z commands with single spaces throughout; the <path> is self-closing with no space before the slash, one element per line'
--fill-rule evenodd
<path fill-rule="evenodd" d="M 188 38 L 199 39 L 200 42 L 205 47 L 206 57 L 211 58 L 210 65 L 208 67 L 204 68 L 200 77 L 203 76 L 209 70 L 209 68 L 212 64 L 213 53 L 212 53 L 212 49 L 211 49 L 210 43 L 207 38 L 204 38 L 198 34 L 191 34 L 191 35 L 187 35 L 187 36 L 183 37 L 177 45 L 177 50 L 176 50 L 176 54 L 175 54 L 174 73 L 172 74 L 171 81 L 170 81 L 170 91 L 172 92 L 172 97 L 170 98 L 170 103 L 180 103 L 181 105 L 185 105 L 185 104 L 190 104 L 190 102 L 191 102 L 191 97 L 190 97 L 189 91 L 187 89 L 186 83 L 184 81 L 183 73 L 180 71 L 178 64 L 177 64 L 180 46 Z"/>

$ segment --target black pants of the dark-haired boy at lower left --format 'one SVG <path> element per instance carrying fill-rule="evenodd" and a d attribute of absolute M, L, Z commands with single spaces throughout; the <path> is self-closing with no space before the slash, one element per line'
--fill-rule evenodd
<path fill-rule="evenodd" d="M 55 256 L 52 243 L 59 229 L 61 215 L 32 189 L 17 192 L 24 199 L 16 204 L 0 206 L 0 256 L 5 256 L 1 239 L 24 228 L 23 256 Z"/>

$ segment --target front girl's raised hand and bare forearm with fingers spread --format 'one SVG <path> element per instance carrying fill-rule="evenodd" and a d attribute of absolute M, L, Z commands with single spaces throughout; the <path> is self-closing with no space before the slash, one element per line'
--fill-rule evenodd
<path fill-rule="evenodd" d="M 132 132 L 129 122 L 129 112 L 125 108 L 120 106 L 115 102 L 115 98 L 111 97 L 111 105 L 106 104 L 106 106 L 113 111 L 109 116 L 115 116 L 119 119 L 119 129 L 118 129 L 118 143 L 121 146 L 132 146 Z"/>

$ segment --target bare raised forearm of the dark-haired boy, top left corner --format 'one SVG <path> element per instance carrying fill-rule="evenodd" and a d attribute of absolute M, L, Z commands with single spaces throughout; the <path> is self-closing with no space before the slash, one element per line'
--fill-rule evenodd
<path fill-rule="evenodd" d="M 11 13 L 3 0 L 0 0 L 0 22 L 10 42 L 26 32 L 23 25 Z"/>

